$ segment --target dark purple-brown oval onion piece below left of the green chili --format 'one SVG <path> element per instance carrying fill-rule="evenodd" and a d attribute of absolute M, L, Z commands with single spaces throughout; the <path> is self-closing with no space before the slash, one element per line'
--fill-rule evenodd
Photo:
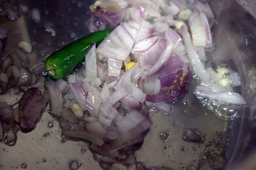
<path fill-rule="evenodd" d="M 19 103 L 21 131 L 29 132 L 35 128 L 35 124 L 41 116 L 41 110 L 45 105 L 45 98 L 41 96 L 41 91 L 36 87 L 30 88 L 22 95 Z"/>

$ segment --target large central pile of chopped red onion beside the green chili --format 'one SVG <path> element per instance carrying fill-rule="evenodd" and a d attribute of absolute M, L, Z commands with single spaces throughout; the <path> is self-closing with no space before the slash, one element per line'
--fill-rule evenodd
<path fill-rule="evenodd" d="M 64 136 L 89 140 L 92 150 L 118 158 L 143 142 L 152 126 L 148 107 L 170 114 L 165 102 L 186 93 L 191 68 L 199 77 L 195 94 L 246 104 L 228 81 L 238 74 L 227 80 L 204 66 L 214 20 L 207 3 L 98 0 L 90 9 L 91 31 L 114 29 L 98 47 L 91 45 L 80 70 L 46 84 L 50 113 L 60 118 Z"/>

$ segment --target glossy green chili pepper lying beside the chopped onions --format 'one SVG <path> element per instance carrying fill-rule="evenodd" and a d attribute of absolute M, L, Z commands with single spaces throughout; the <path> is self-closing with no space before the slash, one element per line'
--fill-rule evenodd
<path fill-rule="evenodd" d="M 110 30 L 91 33 L 49 55 L 45 61 L 47 73 L 54 79 L 67 76 L 85 57 L 93 42 L 96 46 L 109 35 Z"/>

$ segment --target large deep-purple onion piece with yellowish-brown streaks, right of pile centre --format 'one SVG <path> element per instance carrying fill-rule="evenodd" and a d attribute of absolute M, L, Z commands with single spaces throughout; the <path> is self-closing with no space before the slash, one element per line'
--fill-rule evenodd
<path fill-rule="evenodd" d="M 145 78 L 160 82 L 158 92 L 147 92 L 146 101 L 159 103 L 179 98 L 187 91 L 190 75 L 190 65 L 180 56 L 172 55 L 168 62 L 153 76 Z M 145 84 L 143 80 L 140 83 Z"/>

